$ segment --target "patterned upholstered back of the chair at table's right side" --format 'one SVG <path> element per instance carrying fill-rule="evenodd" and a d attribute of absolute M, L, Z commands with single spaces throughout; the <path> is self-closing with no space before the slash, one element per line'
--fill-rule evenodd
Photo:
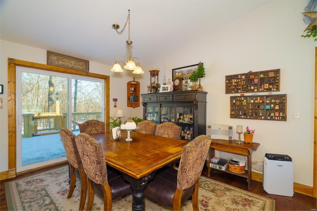
<path fill-rule="evenodd" d="M 210 144 L 211 138 L 199 135 L 183 147 L 177 172 L 177 189 L 185 190 L 199 179 Z"/>

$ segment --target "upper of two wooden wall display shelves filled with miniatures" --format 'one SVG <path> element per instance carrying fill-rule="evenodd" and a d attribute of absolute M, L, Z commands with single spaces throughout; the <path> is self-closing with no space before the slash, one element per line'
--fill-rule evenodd
<path fill-rule="evenodd" d="M 280 90 L 280 69 L 225 76 L 225 93 L 258 93 Z"/>

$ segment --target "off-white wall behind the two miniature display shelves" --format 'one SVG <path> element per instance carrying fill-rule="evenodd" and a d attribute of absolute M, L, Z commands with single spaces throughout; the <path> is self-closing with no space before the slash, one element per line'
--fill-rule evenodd
<path fill-rule="evenodd" d="M 207 123 L 232 125 L 234 131 L 236 125 L 256 129 L 253 141 L 261 145 L 253 152 L 253 161 L 262 162 L 265 153 L 288 154 L 294 182 L 313 186 L 316 42 L 301 38 L 307 27 L 301 14 L 306 5 L 303 0 L 269 2 L 151 65 L 163 64 L 160 75 L 169 76 L 173 68 L 204 62 Z M 280 91 L 272 94 L 287 94 L 287 121 L 230 119 L 231 94 L 225 94 L 225 76 L 271 69 L 281 70 Z M 300 119 L 293 119 L 294 111 L 300 112 Z M 255 167 L 261 170 L 262 164 Z"/>

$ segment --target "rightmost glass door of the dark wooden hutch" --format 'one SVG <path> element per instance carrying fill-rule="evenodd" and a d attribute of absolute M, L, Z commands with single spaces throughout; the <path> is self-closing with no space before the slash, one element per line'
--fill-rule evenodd
<path fill-rule="evenodd" d="M 193 107 L 176 107 L 175 123 L 182 127 L 181 139 L 191 141 L 193 139 Z"/>

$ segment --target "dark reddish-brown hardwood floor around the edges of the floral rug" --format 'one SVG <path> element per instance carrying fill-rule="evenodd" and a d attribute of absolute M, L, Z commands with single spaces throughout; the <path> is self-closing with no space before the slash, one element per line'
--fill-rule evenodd
<path fill-rule="evenodd" d="M 65 165 L 65 164 L 62 164 Z M 61 165 L 59 165 L 61 166 Z M 53 169 L 54 167 L 50 167 L 48 169 Z M 44 169 L 44 170 L 48 170 Z M 43 171 L 39 170 L 39 171 Z M 32 175 L 36 172 L 29 172 L 23 175 L 19 175 L 16 178 L 25 177 L 28 175 Z M 203 176 L 208 176 L 208 169 L 204 168 L 202 172 Z M 245 178 L 235 176 L 228 173 L 223 173 L 220 171 L 214 171 L 211 173 L 211 177 L 214 180 L 224 182 L 227 184 L 230 184 L 232 186 L 241 188 L 243 190 L 247 190 L 247 181 Z M 6 198 L 5 198 L 5 191 L 4 191 L 4 182 L 10 181 L 12 179 L 3 180 L 0 182 L 0 210 L 6 211 L 7 210 L 7 204 L 6 204 Z M 316 211 L 317 210 L 317 200 L 313 197 L 309 197 L 303 194 L 294 193 L 293 197 L 286 197 L 286 196 L 277 196 L 277 195 L 271 195 L 267 194 L 262 186 L 261 182 L 257 182 L 252 180 L 251 184 L 251 192 L 255 194 L 259 194 L 261 196 L 265 196 L 270 199 L 275 200 L 275 211 Z"/>

